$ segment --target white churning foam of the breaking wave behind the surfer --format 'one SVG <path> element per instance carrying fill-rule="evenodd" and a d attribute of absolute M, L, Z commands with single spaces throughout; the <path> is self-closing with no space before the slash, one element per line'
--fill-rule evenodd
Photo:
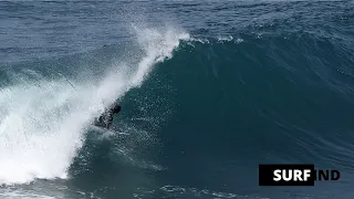
<path fill-rule="evenodd" d="M 66 178 L 85 126 L 105 106 L 139 86 L 156 62 L 171 56 L 180 40 L 189 39 L 174 29 L 136 32 L 145 52 L 138 65 L 112 66 L 98 85 L 76 82 L 75 91 L 65 80 L 38 77 L 0 90 L 0 185 Z"/>

